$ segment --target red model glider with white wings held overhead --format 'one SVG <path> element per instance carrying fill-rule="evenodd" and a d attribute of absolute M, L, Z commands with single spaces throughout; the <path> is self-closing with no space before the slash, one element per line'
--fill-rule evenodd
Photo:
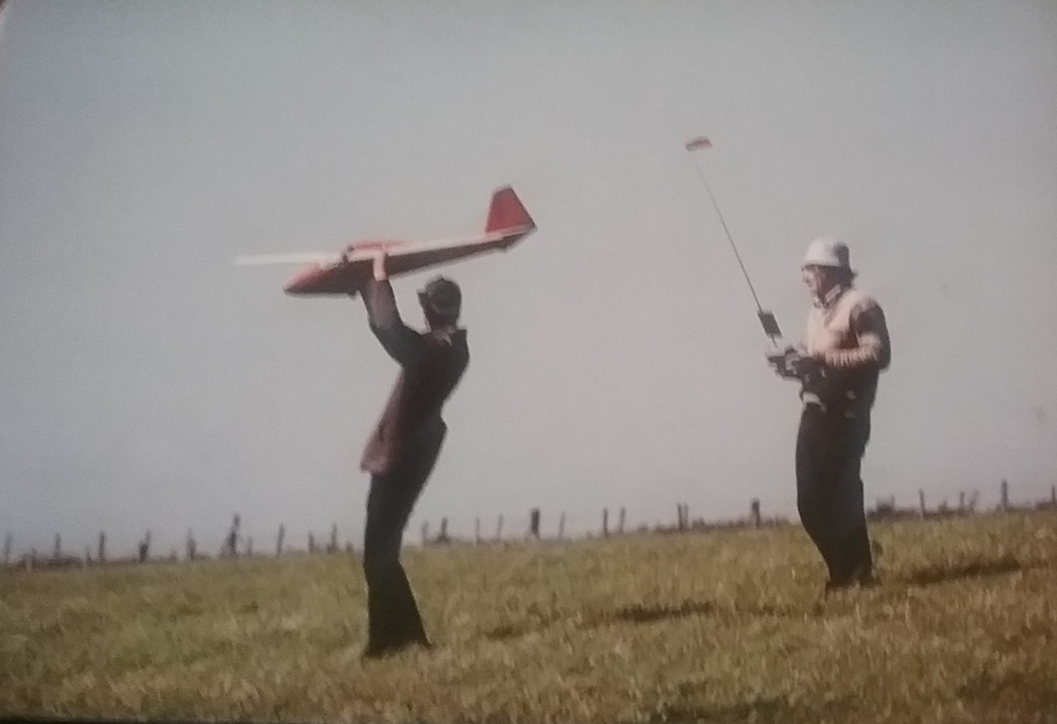
<path fill-rule="evenodd" d="M 338 254 L 264 254 L 238 257 L 235 263 L 312 264 L 286 283 L 286 294 L 350 294 L 371 277 L 379 248 L 386 252 L 389 276 L 394 277 L 485 252 L 506 250 L 535 228 L 517 193 L 503 186 L 492 196 L 484 234 L 479 236 L 437 241 L 360 241 Z"/>

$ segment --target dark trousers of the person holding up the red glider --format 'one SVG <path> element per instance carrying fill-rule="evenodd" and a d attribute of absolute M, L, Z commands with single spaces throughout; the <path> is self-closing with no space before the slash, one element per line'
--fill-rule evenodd
<path fill-rule="evenodd" d="M 371 476 L 364 533 L 370 654 L 429 643 L 411 584 L 400 562 L 400 550 L 411 509 L 433 469 L 443 441 L 443 429 L 420 435 L 391 470 Z"/>

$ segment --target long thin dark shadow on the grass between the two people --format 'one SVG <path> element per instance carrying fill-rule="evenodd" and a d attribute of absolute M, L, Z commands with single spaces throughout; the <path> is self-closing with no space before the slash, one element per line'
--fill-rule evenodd
<path fill-rule="evenodd" d="M 740 616 L 794 616 L 792 609 L 783 609 L 768 604 L 758 606 L 737 606 L 733 608 L 717 606 L 712 601 L 683 601 L 674 606 L 632 604 L 615 611 L 596 611 L 583 616 L 577 628 L 596 629 L 613 624 L 654 624 L 663 620 L 675 620 L 690 616 L 710 616 L 719 618 L 736 618 Z M 553 624 L 565 618 L 557 612 L 538 616 L 535 620 L 515 626 L 504 625 L 484 632 L 485 637 L 493 641 L 517 638 L 533 631 L 542 631 Z"/>

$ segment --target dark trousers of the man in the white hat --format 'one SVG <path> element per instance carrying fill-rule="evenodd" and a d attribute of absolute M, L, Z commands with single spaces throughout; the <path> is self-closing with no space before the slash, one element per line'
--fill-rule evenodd
<path fill-rule="evenodd" d="M 873 573 L 859 476 L 869 438 L 869 413 L 849 417 L 805 405 L 800 416 L 797 509 L 833 584 L 865 582 Z"/>

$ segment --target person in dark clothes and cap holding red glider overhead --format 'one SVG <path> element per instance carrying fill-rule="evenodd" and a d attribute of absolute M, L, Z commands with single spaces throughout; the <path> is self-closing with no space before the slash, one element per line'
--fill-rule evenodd
<path fill-rule="evenodd" d="M 396 310 L 386 257 L 374 260 L 374 278 L 363 290 L 371 331 L 401 366 L 360 468 L 371 474 L 364 533 L 368 643 L 364 654 L 381 656 L 429 641 L 400 550 L 411 509 L 433 469 L 447 426 L 441 410 L 469 363 L 466 330 L 458 328 L 462 294 L 437 277 L 419 293 L 427 332 L 403 322 Z M 355 294 L 355 292 L 353 292 Z"/>

